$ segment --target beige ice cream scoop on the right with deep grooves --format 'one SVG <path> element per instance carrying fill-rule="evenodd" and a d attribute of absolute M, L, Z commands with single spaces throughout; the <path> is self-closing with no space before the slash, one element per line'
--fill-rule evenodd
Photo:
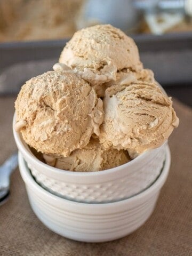
<path fill-rule="evenodd" d="M 103 108 L 100 142 L 107 148 L 128 149 L 131 157 L 161 146 L 179 124 L 171 98 L 155 83 L 111 86 Z"/>

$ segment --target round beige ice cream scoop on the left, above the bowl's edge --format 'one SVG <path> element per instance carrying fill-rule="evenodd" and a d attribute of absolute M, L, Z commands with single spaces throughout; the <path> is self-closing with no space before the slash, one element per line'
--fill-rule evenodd
<path fill-rule="evenodd" d="M 103 121 L 102 100 L 75 74 L 49 71 L 31 78 L 15 101 L 15 130 L 37 151 L 69 156 L 85 147 Z"/>

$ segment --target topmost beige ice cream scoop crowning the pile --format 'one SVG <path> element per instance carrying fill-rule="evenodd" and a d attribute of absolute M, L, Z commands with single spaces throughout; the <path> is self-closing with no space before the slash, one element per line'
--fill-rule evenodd
<path fill-rule="evenodd" d="M 139 79 L 154 79 L 151 71 L 142 71 L 133 39 L 110 25 L 77 31 L 61 52 L 59 62 L 88 81 L 99 97 L 104 96 L 107 83 L 116 81 L 122 72 L 132 72 Z"/>

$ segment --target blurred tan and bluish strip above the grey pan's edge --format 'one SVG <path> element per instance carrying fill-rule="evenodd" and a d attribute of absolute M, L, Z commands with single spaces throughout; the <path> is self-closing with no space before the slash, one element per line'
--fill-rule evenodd
<path fill-rule="evenodd" d="M 1 0 L 0 41 L 61 39 L 99 23 L 131 34 L 182 33 L 192 31 L 191 16 L 185 0 Z"/>

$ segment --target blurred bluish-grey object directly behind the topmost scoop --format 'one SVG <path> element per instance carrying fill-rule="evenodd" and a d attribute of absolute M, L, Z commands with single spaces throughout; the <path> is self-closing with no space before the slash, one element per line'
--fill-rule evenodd
<path fill-rule="evenodd" d="M 86 0 L 77 19 L 77 29 L 110 23 L 123 31 L 133 31 L 140 23 L 141 12 L 133 0 Z"/>

